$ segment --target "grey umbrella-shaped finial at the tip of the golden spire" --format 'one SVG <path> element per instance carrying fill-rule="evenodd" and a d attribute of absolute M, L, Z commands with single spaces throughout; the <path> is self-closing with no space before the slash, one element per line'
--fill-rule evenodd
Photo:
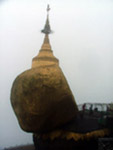
<path fill-rule="evenodd" d="M 47 19 L 46 19 L 46 24 L 44 26 L 44 29 L 41 30 L 42 33 L 45 33 L 45 34 L 50 34 L 52 31 L 51 31 L 51 28 L 50 28 L 50 25 L 49 25 L 49 11 L 50 11 L 50 7 L 49 7 L 49 4 L 47 5 Z"/>

